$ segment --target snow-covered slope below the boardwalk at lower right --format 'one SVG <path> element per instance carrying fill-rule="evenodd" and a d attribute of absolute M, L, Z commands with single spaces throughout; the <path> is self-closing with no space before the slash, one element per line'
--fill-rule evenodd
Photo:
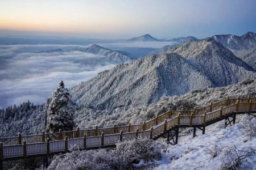
<path fill-rule="evenodd" d="M 154 169 L 224 169 L 224 164 L 222 163 L 228 163 L 229 160 L 238 156 L 236 152 L 225 152 L 229 147 L 238 152 L 239 150 L 245 151 L 246 148 L 256 149 L 256 137 L 254 136 L 250 139 L 245 133 L 245 131 L 249 130 L 246 127 L 247 122 L 254 122 L 255 124 L 256 118 L 253 119 L 250 120 L 250 118 L 242 116 L 242 120 L 238 118 L 238 124 L 226 129 L 224 129 L 223 121 L 217 122 L 206 128 L 205 135 L 201 135 L 201 131 L 197 130 L 199 137 L 192 138 L 192 133 L 189 133 L 188 136 L 180 137 L 177 145 L 169 145 L 166 155 L 158 162 L 159 166 Z M 251 130 L 251 133 L 253 132 L 254 130 Z M 213 153 L 208 154 L 209 150 Z M 216 154 L 215 156 L 214 153 Z M 246 153 L 241 152 L 242 154 Z M 240 165 L 240 168 L 242 166 L 246 169 L 256 168 L 255 156 L 247 156 L 246 159 L 249 164 L 245 162 Z M 238 165 L 236 166 L 238 168 Z"/>

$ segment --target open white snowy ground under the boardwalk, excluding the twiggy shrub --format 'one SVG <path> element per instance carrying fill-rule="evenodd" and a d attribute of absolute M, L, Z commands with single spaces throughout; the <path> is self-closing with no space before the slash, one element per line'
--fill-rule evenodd
<path fill-rule="evenodd" d="M 220 162 L 220 155 L 212 158 L 207 154 L 207 148 L 213 145 L 227 146 L 235 145 L 238 150 L 243 147 L 256 147 L 256 137 L 243 142 L 246 138 L 242 122 L 242 116 L 237 117 L 237 124 L 224 129 L 224 121 L 207 126 L 205 135 L 201 135 L 201 130 L 197 130 L 197 137 L 192 138 L 192 131 L 188 135 L 179 137 L 177 145 L 169 145 L 163 159 L 158 162 L 155 169 L 216 169 Z M 239 122 L 240 121 L 240 122 Z M 256 157 L 249 157 L 251 167 L 256 167 Z"/>

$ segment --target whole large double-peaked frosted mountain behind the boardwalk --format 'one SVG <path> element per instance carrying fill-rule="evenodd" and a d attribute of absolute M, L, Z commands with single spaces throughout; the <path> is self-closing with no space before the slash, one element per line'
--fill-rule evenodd
<path fill-rule="evenodd" d="M 103 71 L 71 88 L 75 101 L 112 111 L 158 101 L 162 96 L 228 86 L 255 78 L 254 69 L 213 40 L 188 41 L 169 53 L 148 56 Z"/>

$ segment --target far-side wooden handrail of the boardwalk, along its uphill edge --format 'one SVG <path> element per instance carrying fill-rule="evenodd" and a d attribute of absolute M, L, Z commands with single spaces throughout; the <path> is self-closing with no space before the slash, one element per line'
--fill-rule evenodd
<path fill-rule="evenodd" d="M 192 113 L 194 116 L 203 115 L 204 112 L 208 113 L 208 112 L 212 112 L 212 111 L 217 111 L 217 109 L 220 108 L 221 106 L 228 107 L 229 105 L 235 104 L 234 101 L 239 101 L 240 107 L 242 107 L 242 105 L 243 105 L 242 108 L 244 109 L 245 105 L 242 103 L 246 103 L 246 101 L 247 101 L 247 103 L 249 103 L 250 100 L 256 101 L 256 97 L 240 98 L 238 96 L 237 99 L 229 99 L 229 97 L 226 97 L 226 100 L 221 100 L 216 103 L 210 102 L 209 105 L 207 105 L 203 108 L 194 109 L 193 111 L 184 111 L 184 109 L 181 109 L 181 111 L 171 111 L 169 109 L 169 111 L 167 111 L 163 114 L 160 114 L 159 116 L 158 116 L 158 114 L 156 114 L 155 118 L 152 118 L 151 120 L 143 122 L 143 124 L 139 124 L 139 125 L 131 125 L 129 123 L 129 125 L 127 125 L 127 126 L 115 126 L 114 125 L 113 127 L 109 127 L 109 128 L 98 128 L 96 126 L 95 129 L 80 130 L 79 128 L 77 128 L 77 130 L 72 130 L 72 131 L 60 130 L 57 133 L 49 133 L 49 134 L 47 134 L 43 131 L 42 134 L 26 135 L 26 136 L 22 136 L 21 134 L 19 134 L 18 137 L 0 138 L 0 142 L 2 142 L 5 145 L 7 145 L 9 143 L 11 143 L 13 145 L 18 145 L 18 144 L 22 144 L 23 141 L 26 141 L 28 143 L 46 142 L 47 138 L 49 138 L 50 141 L 58 141 L 58 140 L 65 139 L 66 136 L 71 139 L 71 138 L 82 138 L 82 137 L 84 137 L 84 135 L 86 135 L 87 137 L 98 136 L 98 135 L 101 135 L 102 132 L 104 132 L 105 134 L 115 134 L 120 130 L 122 130 L 123 133 L 134 132 L 137 129 L 139 129 L 139 131 L 144 131 L 144 130 L 150 129 L 152 126 L 155 126 L 159 122 L 162 122 L 166 119 L 175 118 L 179 114 L 181 114 L 181 116 L 190 116 Z M 207 116 L 207 117 L 210 117 L 210 116 Z M 208 118 L 207 118 L 207 120 L 208 120 Z"/>

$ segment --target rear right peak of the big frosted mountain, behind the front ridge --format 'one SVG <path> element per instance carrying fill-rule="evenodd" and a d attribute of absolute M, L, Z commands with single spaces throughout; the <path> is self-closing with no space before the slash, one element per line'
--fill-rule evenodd
<path fill-rule="evenodd" d="M 237 83 L 251 75 L 247 71 L 255 71 L 223 45 L 210 39 L 187 41 L 169 52 L 187 58 L 188 62 L 207 76 L 213 87 Z"/>

